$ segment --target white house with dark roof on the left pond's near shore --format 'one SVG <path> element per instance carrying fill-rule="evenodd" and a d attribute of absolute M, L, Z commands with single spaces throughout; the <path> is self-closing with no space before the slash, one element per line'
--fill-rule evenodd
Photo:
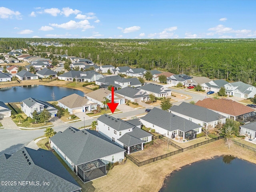
<path fill-rule="evenodd" d="M 33 118 L 33 112 L 36 110 L 38 114 L 40 114 L 44 109 L 50 112 L 51 117 L 56 116 L 58 113 L 58 109 L 54 108 L 51 104 L 46 101 L 40 101 L 34 98 L 27 98 L 22 100 L 22 104 L 20 104 L 21 110 L 26 114 L 26 116 Z"/>

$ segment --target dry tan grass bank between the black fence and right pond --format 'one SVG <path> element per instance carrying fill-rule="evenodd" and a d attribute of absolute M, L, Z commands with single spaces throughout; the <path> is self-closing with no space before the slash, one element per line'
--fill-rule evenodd
<path fill-rule="evenodd" d="M 115 166 L 108 172 L 108 176 L 86 183 L 85 186 L 94 186 L 95 192 L 127 189 L 134 192 L 156 192 L 162 188 L 165 178 L 173 171 L 200 160 L 222 155 L 232 155 L 256 164 L 255 152 L 235 144 L 228 150 L 224 140 L 218 140 L 140 167 L 127 160 L 126 164 Z"/>

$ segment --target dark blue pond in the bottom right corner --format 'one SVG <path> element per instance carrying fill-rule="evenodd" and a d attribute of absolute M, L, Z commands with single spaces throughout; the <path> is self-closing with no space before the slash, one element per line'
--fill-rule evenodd
<path fill-rule="evenodd" d="M 160 192 L 252 192 L 256 165 L 232 156 L 195 162 L 173 172 Z"/>

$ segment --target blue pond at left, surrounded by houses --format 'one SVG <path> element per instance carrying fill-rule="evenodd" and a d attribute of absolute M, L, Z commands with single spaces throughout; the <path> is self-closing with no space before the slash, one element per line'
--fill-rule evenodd
<path fill-rule="evenodd" d="M 57 86 L 44 86 L 44 85 L 32 85 L 32 86 L 15 86 L 0 88 L 0 101 L 7 102 L 20 102 L 26 98 L 32 97 L 42 101 L 53 101 L 52 92 L 54 92 L 55 100 L 60 100 L 64 96 L 76 93 L 80 96 L 84 96 L 84 92 L 65 87 Z"/>

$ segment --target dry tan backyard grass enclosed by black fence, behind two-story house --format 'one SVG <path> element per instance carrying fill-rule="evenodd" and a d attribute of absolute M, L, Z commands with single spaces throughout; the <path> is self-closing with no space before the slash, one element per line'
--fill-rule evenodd
<path fill-rule="evenodd" d="M 167 142 L 164 142 L 161 139 L 156 139 L 154 140 L 153 145 L 147 144 L 144 150 L 132 153 L 130 154 L 130 156 L 132 156 L 139 162 L 142 162 L 142 161 L 145 161 L 154 157 L 158 157 L 176 150 L 178 149 L 174 148 L 171 145 L 169 145 L 169 149 L 167 149 Z"/>

